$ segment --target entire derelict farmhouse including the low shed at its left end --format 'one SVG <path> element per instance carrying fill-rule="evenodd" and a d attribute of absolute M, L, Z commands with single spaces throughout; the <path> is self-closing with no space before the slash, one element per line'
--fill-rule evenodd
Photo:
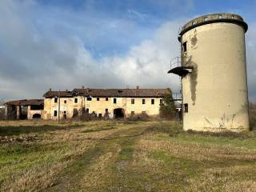
<path fill-rule="evenodd" d="M 6 102 L 9 119 L 69 119 L 83 114 L 98 118 L 125 118 L 136 114 L 157 116 L 167 89 L 48 90 L 44 99 Z"/>

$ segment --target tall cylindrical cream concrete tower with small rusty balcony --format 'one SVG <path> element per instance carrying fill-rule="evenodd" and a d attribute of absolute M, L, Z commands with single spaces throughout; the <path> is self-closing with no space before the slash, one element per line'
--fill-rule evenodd
<path fill-rule="evenodd" d="M 184 130 L 249 130 L 247 28 L 237 14 L 209 14 L 182 26 L 181 57 L 169 73 L 182 78 Z"/>

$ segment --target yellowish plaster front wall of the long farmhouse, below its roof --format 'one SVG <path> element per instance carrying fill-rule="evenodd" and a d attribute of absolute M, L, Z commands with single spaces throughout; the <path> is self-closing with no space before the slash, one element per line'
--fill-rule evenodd
<path fill-rule="evenodd" d="M 74 103 L 74 98 L 78 98 L 78 103 Z M 122 108 L 125 110 L 126 117 L 130 116 L 131 111 L 134 114 L 142 114 L 142 111 L 146 111 L 148 115 L 158 115 L 160 108 L 161 98 L 144 98 L 146 103 L 142 104 L 143 98 L 134 98 L 134 104 L 131 104 L 132 98 L 116 98 L 117 103 L 114 103 L 114 98 L 92 98 L 92 101 L 87 101 L 87 98 L 78 96 L 74 98 L 61 98 L 60 99 L 60 117 L 63 117 L 63 111 L 66 110 L 67 118 L 72 118 L 74 109 L 78 111 L 82 108 L 89 109 L 89 112 L 93 111 L 96 114 L 102 114 L 104 116 L 106 109 L 108 109 L 110 118 L 114 118 L 114 109 Z M 154 99 L 154 105 L 151 105 L 151 99 Z M 64 103 L 64 100 L 67 103 Z M 54 102 L 54 98 L 45 98 L 44 100 L 45 108 L 42 118 L 44 119 L 58 119 L 58 115 L 54 117 L 54 110 L 58 111 L 58 102 Z M 48 114 L 48 115 L 47 115 Z"/>

